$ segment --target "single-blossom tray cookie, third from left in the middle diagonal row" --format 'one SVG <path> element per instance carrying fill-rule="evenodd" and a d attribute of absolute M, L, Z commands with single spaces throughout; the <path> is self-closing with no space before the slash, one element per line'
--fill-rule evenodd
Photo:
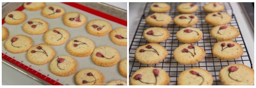
<path fill-rule="evenodd" d="M 50 29 L 44 35 L 45 43 L 54 46 L 64 44 L 67 42 L 68 39 L 68 31 L 62 28 Z"/>

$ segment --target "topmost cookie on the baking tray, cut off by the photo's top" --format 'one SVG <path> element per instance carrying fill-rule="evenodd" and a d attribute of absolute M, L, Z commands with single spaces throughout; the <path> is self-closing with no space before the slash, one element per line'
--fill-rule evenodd
<path fill-rule="evenodd" d="M 37 11 L 41 8 L 45 7 L 45 3 L 43 2 L 26 2 L 23 4 L 23 7 L 29 11 Z"/>

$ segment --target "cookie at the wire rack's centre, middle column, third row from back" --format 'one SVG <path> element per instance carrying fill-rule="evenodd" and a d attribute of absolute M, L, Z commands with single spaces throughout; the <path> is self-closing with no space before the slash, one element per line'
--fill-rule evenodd
<path fill-rule="evenodd" d="M 186 27 L 176 33 L 177 39 L 185 44 L 198 42 L 202 39 L 203 33 L 200 29 Z"/>

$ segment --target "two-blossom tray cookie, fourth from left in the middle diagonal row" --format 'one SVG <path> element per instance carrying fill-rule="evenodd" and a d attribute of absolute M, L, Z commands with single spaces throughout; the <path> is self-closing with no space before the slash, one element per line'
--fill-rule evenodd
<path fill-rule="evenodd" d="M 87 37 L 76 37 L 70 40 L 66 46 L 68 53 L 78 57 L 91 55 L 94 48 L 94 42 Z"/>

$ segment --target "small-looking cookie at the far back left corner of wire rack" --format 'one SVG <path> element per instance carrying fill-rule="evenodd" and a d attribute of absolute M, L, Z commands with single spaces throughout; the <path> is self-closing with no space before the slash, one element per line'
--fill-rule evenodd
<path fill-rule="evenodd" d="M 150 10 L 153 12 L 166 12 L 171 9 L 169 4 L 166 3 L 153 3 L 150 5 Z"/>

